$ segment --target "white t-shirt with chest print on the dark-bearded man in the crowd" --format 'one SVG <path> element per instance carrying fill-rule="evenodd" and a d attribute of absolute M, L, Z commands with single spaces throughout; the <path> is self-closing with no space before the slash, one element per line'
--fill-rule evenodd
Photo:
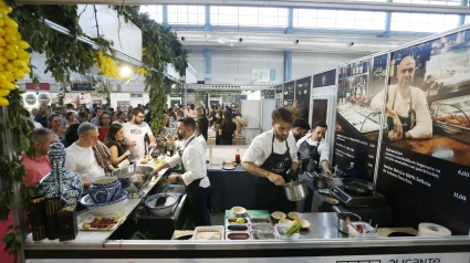
<path fill-rule="evenodd" d="M 136 141 L 137 145 L 130 148 L 130 160 L 132 161 L 138 161 L 140 158 L 145 156 L 145 143 L 144 137 L 145 134 L 148 134 L 148 136 L 154 136 L 152 133 L 150 126 L 148 126 L 147 123 L 142 124 L 132 124 L 125 123 L 123 124 L 124 128 L 124 138 L 127 139 L 127 141 Z"/>

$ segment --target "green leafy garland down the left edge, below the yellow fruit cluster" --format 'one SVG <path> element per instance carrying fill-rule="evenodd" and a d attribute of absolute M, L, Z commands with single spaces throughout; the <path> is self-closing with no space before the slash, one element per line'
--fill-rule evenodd
<path fill-rule="evenodd" d="M 11 130 L 12 145 L 13 145 L 13 158 L 10 160 L 8 157 L 0 156 L 0 179 L 1 179 L 1 192 L 0 192 L 0 221 L 8 220 L 8 214 L 11 210 L 11 203 L 15 200 L 14 197 L 14 185 L 20 183 L 20 196 L 21 196 L 21 209 L 23 211 L 29 210 L 29 188 L 23 182 L 23 177 L 25 176 L 25 168 L 21 165 L 21 160 L 18 156 L 22 151 L 25 151 L 29 156 L 34 155 L 31 149 L 32 124 L 28 120 L 28 117 L 24 113 L 24 108 L 21 105 L 21 91 L 15 90 L 10 93 L 8 101 L 10 105 L 8 106 L 8 126 L 4 123 L 0 123 L 0 130 Z M 32 190 L 32 189 L 31 189 Z M 20 224 L 17 228 L 10 225 L 8 232 L 2 238 L 2 241 L 7 244 L 6 251 L 9 251 L 9 254 L 14 254 L 18 256 L 18 252 L 21 249 L 23 243 L 23 238 L 30 232 L 28 218 L 23 214 L 20 214 Z"/>

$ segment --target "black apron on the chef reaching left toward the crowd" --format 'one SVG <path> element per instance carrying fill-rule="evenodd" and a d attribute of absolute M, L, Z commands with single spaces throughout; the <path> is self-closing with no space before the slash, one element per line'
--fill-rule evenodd
<path fill-rule="evenodd" d="M 185 152 L 186 147 L 196 138 L 194 136 L 185 146 L 185 148 L 178 150 L 179 158 L 181 158 L 181 170 L 182 173 L 186 172 L 185 165 L 182 164 L 182 152 Z M 200 181 L 206 178 L 199 178 L 186 186 L 186 193 L 188 194 L 188 207 L 189 213 L 195 227 L 200 225 L 210 225 L 210 186 L 207 188 L 199 187 Z"/>

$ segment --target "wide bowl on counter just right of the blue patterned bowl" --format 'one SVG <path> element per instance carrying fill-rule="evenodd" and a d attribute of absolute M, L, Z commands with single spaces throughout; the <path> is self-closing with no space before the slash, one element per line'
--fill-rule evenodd
<path fill-rule="evenodd" d="M 132 196 L 135 196 L 150 182 L 154 170 L 155 168 L 152 166 L 136 166 L 134 172 L 134 166 L 127 166 L 114 170 L 111 175 L 117 177 L 123 189 L 127 189 Z M 134 176 L 134 173 L 140 175 Z"/>

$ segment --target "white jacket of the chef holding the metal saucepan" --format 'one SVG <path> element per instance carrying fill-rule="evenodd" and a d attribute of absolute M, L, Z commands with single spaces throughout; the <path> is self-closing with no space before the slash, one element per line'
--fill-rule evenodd
<path fill-rule="evenodd" d="M 271 129 L 254 137 L 250 144 L 250 147 L 248 147 L 247 151 L 244 151 L 243 156 L 241 157 L 241 161 L 254 161 L 257 166 L 262 166 L 268 157 L 272 154 L 273 144 L 275 154 L 285 154 L 288 150 L 285 140 L 279 141 L 279 139 L 274 138 L 273 143 L 273 134 L 274 129 Z M 290 148 L 292 161 L 297 161 L 297 147 L 295 146 L 295 139 L 292 133 L 290 133 L 288 136 L 288 145 Z"/>

